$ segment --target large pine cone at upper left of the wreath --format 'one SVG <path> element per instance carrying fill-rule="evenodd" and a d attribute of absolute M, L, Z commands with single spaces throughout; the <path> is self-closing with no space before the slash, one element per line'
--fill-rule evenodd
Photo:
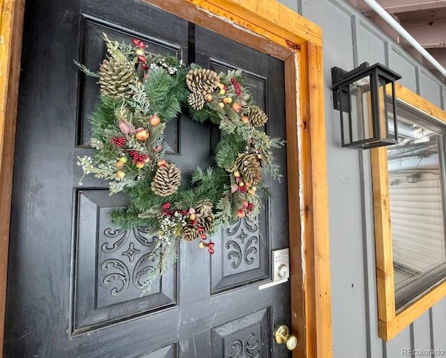
<path fill-rule="evenodd" d="M 134 81 L 132 68 L 114 59 L 105 59 L 99 68 L 100 93 L 122 99 L 131 98 L 133 90 L 130 84 Z"/>

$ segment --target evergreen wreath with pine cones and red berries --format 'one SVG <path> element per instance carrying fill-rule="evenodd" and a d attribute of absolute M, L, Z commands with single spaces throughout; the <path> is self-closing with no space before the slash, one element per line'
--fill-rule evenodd
<path fill-rule="evenodd" d="M 84 175 L 109 181 L 110 194 L 130 196 L 127 209 L 111 212 L 121 227 L 153 229 L 157 244 L 145 288 L 175 262 L 178 242 L 199 239 L 214 253 L 208 238 L 215 229 L 259 212 L 263 172 L 279 180 L 271 149 L 284 141 L 261 130 L 268 120 L 254 104 L 240 70 L 214 72 L 173 56 L 153 56 L 146 45 L 107 42 L 107 58 L 97 73 L 77 63 L 86 75 L 98 77 L 100 99 L 90 116 L 91 157 L 78 157 Z M 215 148 L 215 166 L 197 168 L 189 186 L 180 169 L 164 157 L 167 123 L 187 106 L 193 120 L 219 125 L 222 140 Z M 82 180 L 81 180 L 82 184 Z"/>

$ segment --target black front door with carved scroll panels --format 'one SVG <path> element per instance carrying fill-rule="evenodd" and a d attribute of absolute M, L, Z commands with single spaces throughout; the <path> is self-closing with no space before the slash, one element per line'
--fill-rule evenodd
<path fill-rule="evenodd" d="M 213 256 L 182 242 L 176 267 L 141 296 L 155 239 L 114 227 L 109 211 L 125 196 L 95 178 L 79 185 L 76 165 L 91 153 L 98 85 L 72 61 L 96 70 L 102 33 L 217 72 L 242 68 L 268 134 L 285 138 L 281 61 L 141 1 L 26 1 L 5 357 L 288 357 L 273 334 L 291 321 L 289 283 L 259 290 L 272 250 L 289 245 L 285 149 L 275 153 L 284 180 L 267 180 L 274 194 L 257 221 L 222 229 Z M 182 173 L 209 166 L 218 139 L 185 111 L 169 123 L 169 160 Z"/>

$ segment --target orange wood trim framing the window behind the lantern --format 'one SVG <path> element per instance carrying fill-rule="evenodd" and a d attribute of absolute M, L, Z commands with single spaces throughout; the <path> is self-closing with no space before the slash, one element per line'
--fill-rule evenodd
<path fill-rule="evenodd" d="M 392 93 L 390 86 L 387 86 L 387 93 Z M 401 84 L 396 84 L 395 94 L 399 101 L 405 102 L 417 111 L 422 111 L 446 123 L 445 111 L 408 88 L 401 86 Z M 374 193 L 378 334 L 383 340 L 390 341 L 411 322 L 422 316 L 431 306 L 445 297 L 446 282 L 439 283 L 406 309 L 399 313 L 396 312 L 386 148 L 381 147 L 371 150 L 371 173 Z"/>

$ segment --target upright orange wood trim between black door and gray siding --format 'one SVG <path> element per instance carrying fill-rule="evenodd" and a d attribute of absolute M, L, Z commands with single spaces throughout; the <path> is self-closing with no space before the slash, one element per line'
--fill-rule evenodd
<path fill-rule="evenodd" d="M 306 357 L 332 357 L 328 187 L 322 48 L 300 48 L 300 166 L 305 257 Z"/>

